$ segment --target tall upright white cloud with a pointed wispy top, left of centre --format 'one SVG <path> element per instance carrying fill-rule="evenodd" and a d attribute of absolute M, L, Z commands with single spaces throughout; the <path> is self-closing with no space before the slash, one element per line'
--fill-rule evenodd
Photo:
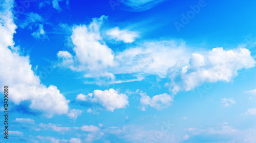
<path fill-rule="evenodd" d="M 71 36 L 74 47 L 74 63 L 67 65 L 74 71 L 88 71 L 85 77 L 108 76 L 114 78 L 114 75 L 108 73 L 105 68 L 114 66 L 114 53 L 104 42 L 100 36 L 99 28 L 106 19 L 106 16 L 93 18 L 89 25 L 73 26 L 73 34 Z M 72 59 L 71 54 L 58 53 L 58 58 L 64 63 L 66 59 Z M 68 57 L 69 56 L 69 57 Z M 99 72 L 100 71 L 100 72 Z"/>

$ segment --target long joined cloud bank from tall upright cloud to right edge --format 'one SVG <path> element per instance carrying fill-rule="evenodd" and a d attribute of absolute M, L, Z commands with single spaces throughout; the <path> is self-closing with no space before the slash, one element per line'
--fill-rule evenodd
<path fill-rule="evenodd" d="M 71 39 L 75 45 L 75 55 L 60 51 L 59 65 L 84 72 L 85 78 L 108 77 L 95 81 L 97 84 L 140 81 L 148 74 L 158 75 L 160 78 L 169 76 L 171 82 L 166 85 L 174 94 L 193 90 L 207 81 L 229 82 L 238 75 L 238 70 L 255 65 L 250 51 L 245 48 L 228 51 L 213 48 L 208 52 L 193 53 L 184 42 L 174 40 L 144 42 L 114 54 L 101 36 L 104 33 L 100 31 L 100 26 L 105 19 L 106 16 L 101 16 L 93 18 L 89 25 L 73 26 Z M 121 40 L 125 39 L 119 36 L 124 31 L 128 32 L 115 27 L 107 34 L 115 35 L 117 40 Z M 129 79 L 115 79 L 116 74 L 131 73 L 133 76 Z"/>

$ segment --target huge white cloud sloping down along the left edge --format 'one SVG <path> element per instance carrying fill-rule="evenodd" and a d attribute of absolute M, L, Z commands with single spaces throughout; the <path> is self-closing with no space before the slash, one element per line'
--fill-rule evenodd
<path fill-rule="evenodd" d="M 69 100 L 54 85 L 47 88 L 41 84 L 39 77 L 31 69 L 29 56 L 20 55 L 18 48 L 14 47 L 12 39 L 16 25 L 13 23 L 12 7 L 12 1 L 1 4 L 0 86 L 9 85 L 12 91 L 9 98 L 15 104 L 29 100 L 30 108 L 44 111 L 48 117 L 55 113 L 67 113 Z"/>

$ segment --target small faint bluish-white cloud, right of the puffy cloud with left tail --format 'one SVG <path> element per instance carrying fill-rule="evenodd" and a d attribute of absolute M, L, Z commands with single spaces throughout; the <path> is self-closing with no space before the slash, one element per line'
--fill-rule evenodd
<path fill-rule="evenodd" d="M 166 93 L 155 95 L 152 98 L 146 95 L 146 93 L 139 93 L 141 95 L 140 104 L 141 105 L 150 105 L 151 107 L 161 109 L 171 105 L 173 101 L 173 96 L 170 96 Z M 145 107 L 142 107 L 142 110 L 145 110 Z"/>

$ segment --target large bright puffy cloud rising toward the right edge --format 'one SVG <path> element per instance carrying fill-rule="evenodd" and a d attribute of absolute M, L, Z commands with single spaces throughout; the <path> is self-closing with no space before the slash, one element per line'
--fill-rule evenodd
<path fill-rule="evenodd" d="M 179 72 L 170 74 L 170 90 L 173 93 L 190 91 L 204 82 L 231 81 L 237 71 L 255 66 L 250 51 L 245 48 L 225 51 L 214 48 L 205 55 L 193 54 L 190 63 Z M 176 81 L 177 80 L 177 81 Z"/>

